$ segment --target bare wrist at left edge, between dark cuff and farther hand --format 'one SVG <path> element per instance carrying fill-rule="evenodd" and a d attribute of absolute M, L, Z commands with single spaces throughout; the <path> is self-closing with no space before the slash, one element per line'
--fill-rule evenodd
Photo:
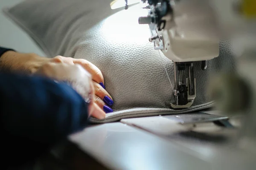
<path fill-rule="evenodd" d="M 15 51 L 6 51 L 2 57 L 0 57 L 0 69 L 33 74 L 47 61 L 49 61 L 48 58 L 40 57 L 33 53 L 22 54 Z"/>

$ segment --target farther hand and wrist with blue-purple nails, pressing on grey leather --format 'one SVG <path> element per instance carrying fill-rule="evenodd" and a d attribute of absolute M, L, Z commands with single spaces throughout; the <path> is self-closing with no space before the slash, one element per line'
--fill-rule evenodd
<path fill-rule="evenodd" d="M 70 57 L 57 56 L 54 58 L 40 57 L 37 54 L 22 54 L 15 51 L 7 51 L 0 58 L 0 69 L 8 71 L 22 71 L 26 74 L 34 74 L 42 67 L 47 67 L 47 63 L 66 63 L 70 65 L 79 64 L 92 75 L 93 87 L 95 89 L 95 103 L 102 108 L 105 113 L 111 113 L 113 99 L 105 90 L 104 79 L 101 71 L 91 62 L 85 59 L 73 59 Z M 43 68 L 44 69 L 44 68 Z M 53 73 L 52 73 L 53 74 Z M 45 76 L 49 77 L 50 74 Z"/>

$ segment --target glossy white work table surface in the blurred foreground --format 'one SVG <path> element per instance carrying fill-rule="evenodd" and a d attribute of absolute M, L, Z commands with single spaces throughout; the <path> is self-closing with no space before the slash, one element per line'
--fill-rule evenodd
<path fill-rule="evenodd" d="M 69 139 L 113 170 L 255 170 L 255 154 L 233 149 L 232 144 L 176 135 L 183 129 L 159 117 L 93 125 Z M 211 126 L 205 127 L 221 133 Z M 207 131 L 205 127 L 203 131 Z M 174 130 L 166 134 L 166 130 L 172 128 Z"/>

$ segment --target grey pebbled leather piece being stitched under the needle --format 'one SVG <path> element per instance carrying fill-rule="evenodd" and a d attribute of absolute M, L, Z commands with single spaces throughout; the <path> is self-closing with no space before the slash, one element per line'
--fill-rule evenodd
<path fill-rule="evenodd" d="M 234 69 L 229 42 L 220 42 L 220 56 L 209 62 L 206 71 L 201 71 L 200 62 L 195 63 L 197 97 L 192 107 L 182 111 L 167 109 L 166 102 L 175 102 L 175 99 L 163 64 L 174 84 L 173 62 L 160 52 L 161 60 L 159 52 L 148 42 L 148 26 L 138 24 L 140 12 L 136 6 L 111 10 L 110 1 L 63 0 L 57 5 L 56 0 L 31 0 L 11 8 L 7 14 L 29 32 L 47 54 L 84 58 L 102 71 L 115 112 L 101 121 L 91 119 L 92 122 L 162 112 L 187 113 L 210 107 L 212 102 L 206 94 L 210 75 L 221 69 Z M 41 9 L 46 6 L 47 14 Z M 27 15 L 34 14 L 37 18 L 21 16 L 20 8 L 30 10 Z M 231 66 L 227 68 L 227 65 Z"/>

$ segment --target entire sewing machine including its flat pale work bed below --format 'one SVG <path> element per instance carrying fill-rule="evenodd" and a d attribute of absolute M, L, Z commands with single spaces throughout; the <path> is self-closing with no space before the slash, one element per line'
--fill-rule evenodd
<path fill-rule="evenodd" d="M 233 39 L 239 56 L 237 71 L 216 75 L 209 86 L 212 94 L 223 94 L 212 95 L 219 111 L 122 119 L 88 127 L 70 136 L 70 141 L 111 169 L 254 170 L 256 34 L 253 30 L 256 29 L 250 18 L 256 13 L 250 7 L 255 9 L 256 3 L 247 0 L 142 2 L 148 16 L 140 17 L 139 23 L 149 25 L 149 41 L 174 61 L 176 103 L 171 105 L 174 109 L 190 107 L 196 97 L 193 62 L 201 61 L 201 69 L 207 69 L 207 60 L 218 57 L 220 37 Z M 127 0 L 124 6 L 128 9 Z M 243 46 L 246 48 L 240 53 Z M 223 112 L 230 117 L 216 116 Z M 235 114 L 243 117 L 233 117 Z M 230 125 L 220 124 L 221 121 L 216 125 L 215 118 L 229 119 Z M 181 121 L 188 123 L 177 123 Z"/>

